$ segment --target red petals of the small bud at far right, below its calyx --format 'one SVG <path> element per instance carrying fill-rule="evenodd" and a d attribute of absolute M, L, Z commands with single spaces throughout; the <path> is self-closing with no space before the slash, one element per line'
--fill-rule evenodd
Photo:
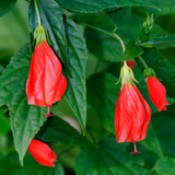
<path fill-rule="evenodd" d="M 148 77 L 147 85 L 150 98 L 158 107 L 159 112 L 166 110 L 165 105 L 170 105 L 166 101 L 166 89 L 156 78 L 153 77 Z"/>

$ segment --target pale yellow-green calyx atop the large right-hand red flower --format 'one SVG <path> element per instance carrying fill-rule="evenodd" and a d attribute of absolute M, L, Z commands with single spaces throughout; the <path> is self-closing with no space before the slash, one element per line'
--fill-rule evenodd
<path fill-rule="evenodd" d="M 132 88 L 132 84 L 135 85 L 133 81 L 139 83 L 136 79 L 135 79 L 135 75 L 133 75 L 133 72 L 131 70 L 131 68 L 129 68 L 127 66 L 127 62 L 125 61 L 124 62 L 124 66 L 120 70 L 120 75 L 119 75 L 119 80 L 116 84 L 119 83 L 119 81 L 121 80 L 121 89 L 124 86 L 124 84 L 128 84 L 130 88 Z"/>

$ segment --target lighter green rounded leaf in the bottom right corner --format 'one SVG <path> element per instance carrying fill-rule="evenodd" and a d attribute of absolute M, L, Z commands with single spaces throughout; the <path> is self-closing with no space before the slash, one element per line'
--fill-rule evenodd
<path fill-rule="evenodd" d="M 175 159 L 165 158 L 159 160 L 154 166 L 159 175 L 174 175 L 175 174 Z"/>

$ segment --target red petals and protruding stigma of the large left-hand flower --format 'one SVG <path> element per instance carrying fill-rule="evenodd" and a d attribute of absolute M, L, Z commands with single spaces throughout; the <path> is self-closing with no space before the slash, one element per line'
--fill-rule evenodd
<path fill-rule="evenodd" d="M 26 95 L 28 104 L 48 107 L 46 116 L 51 116 L 49 107 L 61 100 L 67 89 L 61 69 L 59 59 L 45 40 L 36 46 L 26 83 Z"/>

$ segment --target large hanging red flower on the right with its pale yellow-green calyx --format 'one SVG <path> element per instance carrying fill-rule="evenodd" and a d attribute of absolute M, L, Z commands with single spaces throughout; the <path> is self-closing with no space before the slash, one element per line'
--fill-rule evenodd
<path fill-rule="evenodd" d="M 115 110 L 115 130 L 117 142 L 136 142 L 145 139 L 147 128 L 151 119 L 151 108 L 133 84 L 137 81 L 131 69 L 126 65 L 120 71 L 121 91 Z M 119 79 L 119 80 L 120 80 Z"/>

